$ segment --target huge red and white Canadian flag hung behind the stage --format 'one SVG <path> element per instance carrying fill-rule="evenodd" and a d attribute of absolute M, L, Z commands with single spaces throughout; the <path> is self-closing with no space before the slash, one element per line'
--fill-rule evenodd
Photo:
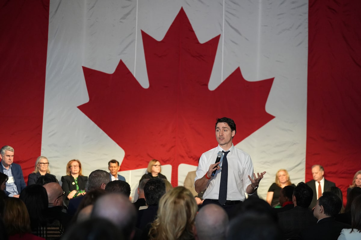
<path fill-rule="evenodd" d="M 359 1 L 1 1 L 1 145 L 25 178 L 110 159 L 132 196 L 149 160 L 173 186 L 217 145 L 216 118 L 266 171 L 344 193 L 361 169 Z"/>

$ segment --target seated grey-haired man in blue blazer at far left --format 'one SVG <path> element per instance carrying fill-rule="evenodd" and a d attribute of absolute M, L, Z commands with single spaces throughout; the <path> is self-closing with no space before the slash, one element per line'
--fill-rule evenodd
<path fill-rule="evenodd" d="M 5 194 L 9 197 L 18 198 L 26 184 L 20 165 L 13 163 L 14 149 L 10 146 L 3 146 L 0 150 L 0 158 L 0 172 L 9 177 L 6 182 Z"/>

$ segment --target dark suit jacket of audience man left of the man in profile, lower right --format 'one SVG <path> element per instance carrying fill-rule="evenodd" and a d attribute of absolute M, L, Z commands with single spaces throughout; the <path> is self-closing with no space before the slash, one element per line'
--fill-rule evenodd
<path fill-rule="evenodd" d="M 317 219 L 308 208 L 296 206 L 290 210 L 278 213 L 278 222 L 283 239 L 297 238 L 303 228 L 316 225 Z"/>

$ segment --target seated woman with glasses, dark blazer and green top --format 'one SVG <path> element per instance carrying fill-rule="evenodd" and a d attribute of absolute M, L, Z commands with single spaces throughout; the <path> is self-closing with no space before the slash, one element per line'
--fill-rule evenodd
<path fill-rule="evenodd" d="M 62 189 L 65 191 L 64 203 L 68 206 L 69 200 L 84 195 L 88 177 L 82 175 L 82 164 L 73 159 L 66 164 L 66 176 L 61 177 Z"/>

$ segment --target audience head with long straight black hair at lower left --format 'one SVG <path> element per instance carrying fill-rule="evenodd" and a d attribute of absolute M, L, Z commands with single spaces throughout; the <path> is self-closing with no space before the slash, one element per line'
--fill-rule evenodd
<path fill-rule="evenodd" d="M 25 203 L 30 216 L 31 228 L 45 224 L 44 210 L 48 208 L 48 194 L 43 186 L 29 185 L 25 187 L 19 198 Z"/>

